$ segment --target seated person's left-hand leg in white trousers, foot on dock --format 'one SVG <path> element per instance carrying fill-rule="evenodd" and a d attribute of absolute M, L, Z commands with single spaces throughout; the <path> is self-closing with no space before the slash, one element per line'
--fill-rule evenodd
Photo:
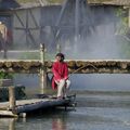
<path fill-rule="evenodd" d="M 65 80 L 60 80 L 58 84 L 57 84 L 57 98 L 63 96 L 63 89 L 65 87 Z"/>

